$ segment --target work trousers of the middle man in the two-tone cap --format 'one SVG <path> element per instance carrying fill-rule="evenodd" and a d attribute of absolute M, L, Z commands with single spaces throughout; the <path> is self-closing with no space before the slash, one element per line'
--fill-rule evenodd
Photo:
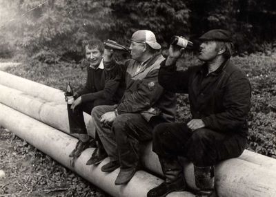
<path fill-rule="evenodd" d="M 103 125 L 101 115 L 114 110 L 115 106 L 97 106 L 92 110 L 92 120 L 110 161 L 119 160 L 121 170 L 128 171 L 139 165 L 139 142 L 152 140 L 154 126 L 164 119 L 154 117 L 147 122 L 140 113 L 124 113 L 112 124 Z"/>

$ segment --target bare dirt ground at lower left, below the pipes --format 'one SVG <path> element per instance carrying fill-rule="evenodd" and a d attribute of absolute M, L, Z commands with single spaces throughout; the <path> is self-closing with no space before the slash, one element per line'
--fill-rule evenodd
<path fill-rule="evenodd" d="M 8 129 L 0 128 L 1 196 L 109 197 Z M 1 176 L 1 175 L 0 175 Z"/>

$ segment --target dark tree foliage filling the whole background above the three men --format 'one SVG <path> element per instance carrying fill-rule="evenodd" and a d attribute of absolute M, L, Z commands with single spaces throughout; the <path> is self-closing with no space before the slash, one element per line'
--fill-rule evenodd
<path fill-rule="evenodd" d="M 80 59 L 86 39 L 128 44 L 137 29 L 194 40 L 212 28 L 235 32 L 237 53 L 264 50 L 275 41 L 275 1 L 264 0 L 3 0 L 0 57 L 26 54 L 41 62 Z"/>

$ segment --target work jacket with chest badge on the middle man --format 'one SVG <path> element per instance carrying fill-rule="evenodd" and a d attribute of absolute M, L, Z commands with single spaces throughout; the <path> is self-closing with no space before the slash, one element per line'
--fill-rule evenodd
<path fill-rule="evenodd" d="M 126 91 L 117 107 L 119 114 L 141 113 L 148 121 L 155 115 L 168 122 L 175 120 L 175 93 L 164 90 L 158 82 L 163 60 L 162 55 L 153 55 L 143 64 L 134 59 L 126 61 Z M 138 67 L 140 70 L 137 70 Z"/>

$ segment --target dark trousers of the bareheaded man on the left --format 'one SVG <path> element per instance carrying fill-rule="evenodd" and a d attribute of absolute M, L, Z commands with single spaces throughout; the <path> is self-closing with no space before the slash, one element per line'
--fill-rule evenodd
<path fill-rule="evenodd" d="M 99 106 L 103 104 L 113 103 L 110 100 L 94 100 L 94 102 L 84 102 L 82 104 L 79 104 L 79 106 L 77 106 L 74 111 L 70 109 L 71 105 L 68 105 L 67 110 L 70 133 L 88 134 L 86 130 L 86 124 L 83 118 L 83 111 L 90 115 L 94 106 Z M 97 132 L 95 133 L 95 140 L 99 140 Z"/>

